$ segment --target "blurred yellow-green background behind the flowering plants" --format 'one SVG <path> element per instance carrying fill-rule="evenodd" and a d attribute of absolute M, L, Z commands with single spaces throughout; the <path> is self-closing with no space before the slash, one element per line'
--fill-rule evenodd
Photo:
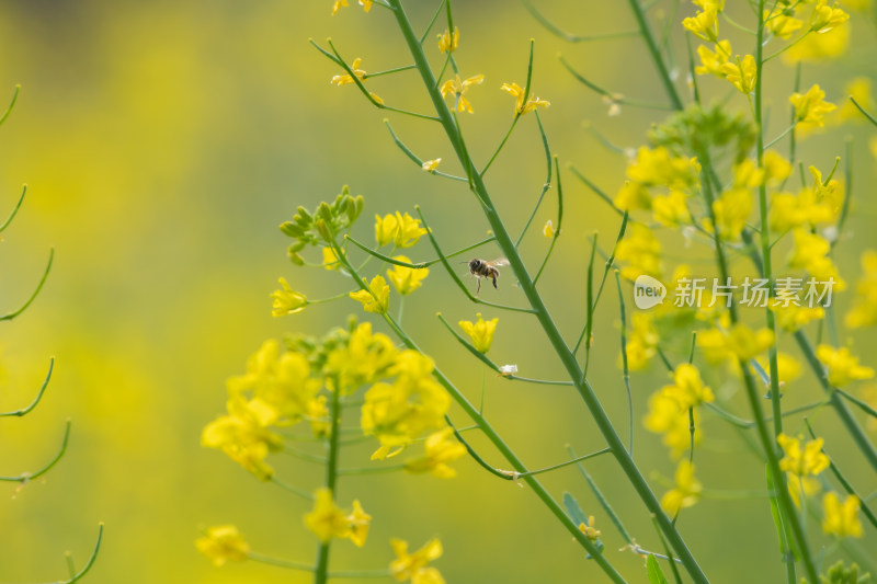
<path fill-rule="evenodd" d="M 330 16 L 330 0 L 174 2 L 107 0 L 27 0 L 2 2 L 0 11 L 0 95 L 22 85 L 19 102 L 0 128 L 0 209 L 10 208 L 21 185 L 29 197 L 0 244 L 0 310 L 18 306 L 39 278 L 48 250 L 56 261 L 36 302 L 20 319 L 1 323 L 0 405 L 30 401 L 48 358 L 55 375 L 42 404 L 26 419 L 0 423 L 0 473 L 35 469 L 56 451 L 66 419 L 73 424 L 62 461 L 44 479 L 23 489 L 0 484 L 0 582 L 48 582 L 64 577 L 64 552 L 78 564 L 91 551 L 98 522 L 105 522 L 104 545 L 88 582 L 129 584 L 307 582 L 306 574 L 252 562 L 215 569 L 194 548 L 200 527 L 235 523 L 260 552 L 310 561 L 316 542 L 301 524 L 306 505 L 273 485 L 260 484 L 220 453 L 203 449 L 202 427 L 223 412 L 225 380 L 243 370 L 247 357 L 267 337 L 284 332 L 322 334 L 362 314 L 352 300 L 315 306 L 272 319 L 269 294 L 276 278 L 311 298 L 348 289 L 348 283 L 320 270 L 296 268 L 286 259 L 286 239 L 277 225 L 298 205 L 331 199 L 343 184 L 366 197 L 354 233 L 373 237 L 372 217 L 421 205 L 446 248 L 485 237 L 487 225 L 464 185 L 429 176 L 392 145 L 385 117 L 353 87 L 335 88 L 337 68 L 308 45 L 331 36 L 342 55 L 362 57 L 366 70 L 406 65 L 394 23 L 379 8 L 360 7 Z M 540 0 L 540 11 L 576 33 L 634 28 L 618 2 Z M 737 2 L 728 2 L 737 4 Z M 429 20 L 435 2 L 409 2 L 414 22 Z M 517 2 L 457 2 L 462 30 L 457 54 L 464 76 L 483 73 L 469 96 L 476 115 L 464 117 L 471 150 L 483 160 L 511 121 L 511 98 L 503 82 L 522 85 L 528 39 L 536 39 L 534 88 L 553 102 L 543 119 L 561 165 L 572 163 L 611 194 L 620 186 L 626 161 L 590 131 L 595 128 L 623 147 L 645 141 L 649 126 L 665 112 L 624 107 L 610 117 L 599 95 L 560 66 L 565 57 L 589 78 L 631 99 L 663 103 L 664 98 L 638 38 L 568 44 L 549 34 Z M 656 22 L 672 18 L 670 34 L 677 59 L 684 55 L 680 21 L 693 12 L 660 2 Z M 729 5 L 740 20 L 743 3 Z M 873 15 L 853 15 L 853 43 L 831 65 L 806 65 L 802 84 L 820 82 L 831 101 L 844 99 L 855 76 L 877 75 Z M 444 25 L 441 26 L 441 30 Z M 440 31 L 436 31 L 440 32 Z M 743 37 L 731 34 L 734 46 Z M 433 36 L 434 38 L 434 36 Z M 438 53 L 432 41 L 429 53 Z M 747 49 L 749 50 L 749 49 Z M 767 104 L 771 128 L 786 119 L 791 69 L 774 62 Z M 684 73 L 680 75 L 684 89 Z M 376 78 L 369 88 L 388 103 L 426 111 L 413 72 Z M 709 99 L 726 87 L 705 80 Z M 743 108 L 733 98 L 730 108 Z M 394 127 L 424 159 L 453 156 L 437 127 L 392 117 Z M 855 279 L 858 253 L 875 247 L 874 158 L 867 148 L 874 128 L 850 125 L 811 136 L 800 159 L 828 170 L 854 138 L 855 206 L 838 262 Z M 523 119 L 489 174 L 488 186 L 516 232 L 544 181 L 544 158 L 533 118 Z M 583 322 L 588 238 L 600 231 L 608 245 L 618 218 L 578 183 L 562 174 L 567 197 L 565 231 L 544 275 L 546 300 L 568 339 Z M 540 234 L 554 217 L 553 193 L 539 213 L 523 253 L 533 265 L 547 240 Z M 5 214 L 5 210 L 0 210 Z M 668 239 L 671 262 L 697 262 L 703 251 Z M 478 252 L 498 255 L 496 249 Z M 425 242 L 409 250 L 415 260 L 432 257 Z M 317 259 L 314 259 L 317 261 Z M 465 267 L 462 266 L 462 273 Z M 517 302 L 520 293 L 504 276 L 500 290 L 482 290 L 500 302 Z M 618 312 L 607 289 L 595 327 L 592 381 L 604 405 L 626 427 L 626 398 L 618 355 Z M 848 299 L 841 298 L 841 306 Z M 405 324 L 472 400 L 486 390 L 486 412 L 532 467 L 565 459 L 565 445 L 585 453 L 603 446 L 579 398 L 545 386 L 521 386 L 485 378 L 443 330 L 434 313 L 451 322 L 471 320 L 476 307 L 456 294 L 440 270 L 406 305 Z M 558 378 L 561 369 L 534 323 L 500 317 L 491 356 L 515 363 L 522 374 Z M 374 320 L 374 319 L 372 319 Z M 842 331 L 843 339 L 848 336 Z M 873 334 L 856 336 L 863 360 L 877 364 Z M 659 440 L 639 424 L 646 399 L 664 382 L 659 367 L 633 379 L 637 421 L 637 460 L 671 477 Z M 718 387 L 722 379 L 713 378 Z M 722 386 L 724 387 L 724 386 Z M 727 388 L 726 388 L 727 389 Z M 811 379 L 797 381 L 790 403 L 817 399 Z M 727 396 L 740 405 L 740 397 Z M 737 399 L 738 401 L 733 401 Z M 465 424 L 459 412 L 458 423 Z M 830 451 L 863 492 L 877 489 L 833 415 L 816 415 Z M 698 471 L 707 488 L 763 490 L 763 470 L 740 436 L 706 417 L 709 438 L 698 449 Z M 800 419 L 790 423 L 801 431 Z M 877 435 L 872 434 L 875 439 Z M 499 456 L 475 444 L 488 459 Z M 368 449 L 351 453 L 350 466 L 364 465 Z M 274 465 L 291 483 L 311 489 L 318 468 L 293 458 Z M 528 489 L 499 481 L 470 460 L 456 463 L 459 477 L 396 474 L 345 480 L 342 501 L 358 497 L 375 517 L 366 548 L 340 542 L 338 568 L 379 569 L 391 559 L 388 540 L 401 537 L 419 547 L 441 537 L 445 557 L 437 566 L 448 582 L 600 582 L 602 573 L 559 527 Z M 608 458 L 589 470 L 614 495 L 628 528 L 657 549 L 651 523 Z M 600 516 L 593 496 L 574 469 L 544 477 L 556 496 L 577 495 Z M 661 479 L 652 481 L 663 491 Z M 602 525 L 606 552 L 631 581 L 643 581 L 642 562 L 615 550 L 623 543 L 608 522 Z M 681 530 L 716 582 L 775 582 L 782 577 L 767 502 L 760 497 L 705 499 L 683 514 Z M 813 541 L 818 518 L 809 527 Z M 866 526 L 859 550 L 877 546 Z M 817 545 L 818 548 L 818 545 Z M 828 550 L 830 553 L 832 550 Z M 833 558 L 829 556 L 829 558 Z M 872 560 L 873 561 L 873 560 Z M 874 565 L 872 565 L 874 568 Z"/>

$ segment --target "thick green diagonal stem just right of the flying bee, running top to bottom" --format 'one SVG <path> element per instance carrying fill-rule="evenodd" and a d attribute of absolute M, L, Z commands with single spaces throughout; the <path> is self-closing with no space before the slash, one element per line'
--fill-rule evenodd
<path fill-rule="evenodd" d="M 636 0 L 631 0 L 636 3 Z M 460 163 L 465 169 L 474 168 L 471 159 L 468 158 L 468 153 L 466 152 L 465 145 L 463 144 L 463 138 L 454 123 L 454 118 L 451 115 L 451 112 L 447 108 L 447 105 L 441 98 L 441 94 L 436 91 L 432 91 L 432 88 L 435 87 L 435 79 L 432 76 L 432 71 L 429 67 L 429 62 L 426 60 L 426 56 L 423 53 L 422 47 L 420 46 L 417 36 L 414 35 L 413 30 L 411 28 L 411 23 L 408 21 L 408 16 L 405 12 L 405 9 L 401 5 L 400 0 L 390 0 L 390 5 L 394 8 L 394 15 L 396 16 L 396 21 L 399 24 L 399 27 L 405 37 L 406 44 L 408 45 L 409 50 L 414 57 L 414 62 L 418 65 L 418 69 L 420 70 L 420 75 L 423 79 L 423 84 L 426 88 L 430 99 L 433 102 L 433 106 L 438 114 L 438 118 L 441 121 L 442 126 L 447 134 L 447 138 L 451 141 L 457 157 L 460 160 Z M 674 102 L 675 103 L 675 102 Z M 615 428 L 612 424 L 612 421 L 606 415 L 606 412 L 603 410 L 603 405 L 600 403 L 600 400 L 596 397 L 596 393 L 591 388 L 590 383 L 584 380 L 582 381 L 582 371 L 579 367 L 578 362 L 576 360 L 574 355 L 566 345 L 562 336 L 560 335 L 560 331 L 557 329 L 554 319 L 551 318 L 550 313 L 548 312 L 547 307 L 545 306 L 542 297 L 539 296 L 536 287 L 533 284 L 533 280 L 527 273 L 526 267 L 524 266 L 524 262 L 521 259 L 517 250 L 514 247 L 514 242 L 512 241 L 509 232 L 505 229 L 504 224 L 498 216 L 490 196 L 488 194 L 487 187 L 482 178 L 478 173 L 474 173 L 470 170 L 469 178 L 471 180 L 472 190 L 478 198 L 482 202 L 483 213 L 490 227 L 493 230 L 493 233 L 497 237 L 497 243 L 502 252 L 505 254 L 505 257 L 509 260 L 512 271 L 514 272 L 515 276 L 517 277 L 519 285 L 521 286 L 524 296 L 526 297 L 529 306 L 532 307 L 533 312 L 535 313 L 536 319 L 539 321 L 546 336 L 548 337 L 551 346 L 554 347 L 555 352 L 559 356 L 563 367 L 567 369 L 567 373 L 571 380 L 576 382 L 576 389 L 578 390 L 580 397 L 584 401 L 585 405 L 588 406 L 591 415 L 594 419 L 594 422 L 597 426 L 597 430 L 601 432 L 603 437 L 606 440 L 606 445 L 612 450 L 613 455 L 615 456 L 618 465 L 622 467 L 622 470 L 627 476 L 628 480 L 630 481 L 634 489 L 637 491 L 637 494 L 645 503 L 646 507 L 656 515 L 661 529 L 664 531 L 664 536 L 671 542 L 672 547 L 676 550 L 676 553 L 681 558 L 683 564 L 685 565 L 686 571 L 692 576 L 692 579 L 699 583 L 706 584 L 707 577 L 704 574 L 701 566 L 697 564 L 697 561 L 694 559 L 691 550 L 688 550 L 687 546 L 682 539 L 682 536 L 676 531 L 676 529 L 671 525 L 670 518 L 667 516 L 664 511 L 661 508 L 661 505 L 658 499 L 652 493 L 651 489 L 649 488 L 648 482 L 646 481 L 642 473 L 639 471 L 636 462 L 627 453 L 624 443 L 622 442 L 618 434 L 615 432 Z M 385 316 L 386 317 L 386 316 Z M 401 331 L 399 331 L 401 332 Z M 462 397 L 462 396 L 460 396 Z M 477 412 L 472 411 L 472 414 L 478 415 Z M 475 419 L 474 419 L 475 420 Z M 480 425 L 480 424 L 479 424 Z M 511 450 L 508 450 L 508 455 L 514 458 L 514 455 Z M 515 458 L 516 460 L 516 458 Z M 526 479 L 532 479 L 532 477 L 527 477 Z M 549 505 L 553 509 L 556 511 L 556 515 L 558 518 L 560 516 L 563 517 L 565 524 L 571 525 L 571 522 L 566 514 L 563 514 L 562 509 L 557 505 L 550 496 L 545 493 L 544 501 L 546 504 Z M 573 526 L 574 527 L 574 526 Z M 572 529 L 573 535 L 574 531 L 578 529 Z M 577 536 L 577 539 L 585 546 L 589 551 L 593 548 L 593 545 L 588 540 L 586 537 L 583 537 L 584 534 L 579 534 L 582 536 L 580 539 Z M 585 545 L 584 541 L 588 541 Z M 594 550 L 596 551 L 596 550 Z M 623 579 L 620 575 L 612 568 L 608 562 L 605 562 L 603 557 L 600 553 L 591 553 L 591 556 L 601 564 L 601 568 L 610 575 L 614 581 L 620 582 Z M 601 561 L 602 560 L 602 561 Z"/>

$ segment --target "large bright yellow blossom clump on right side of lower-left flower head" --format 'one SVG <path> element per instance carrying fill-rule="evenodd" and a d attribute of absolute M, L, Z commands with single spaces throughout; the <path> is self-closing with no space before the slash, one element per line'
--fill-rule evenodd
<path fill-rule="evenodd" d="M 394 456 L 425 432 L 446 426 L 451 397 L 432 377 L 433 368 L 429 357 L 402 351 L 386 374 L 395 379 L 379 381 L 365 392 L 363 433 L 376 436 L 381 445 L 373 459 Z"/>

